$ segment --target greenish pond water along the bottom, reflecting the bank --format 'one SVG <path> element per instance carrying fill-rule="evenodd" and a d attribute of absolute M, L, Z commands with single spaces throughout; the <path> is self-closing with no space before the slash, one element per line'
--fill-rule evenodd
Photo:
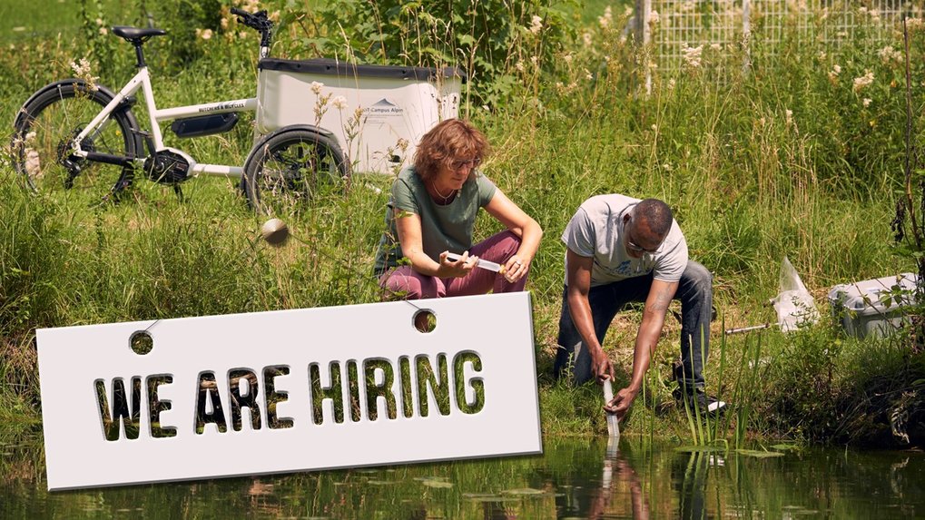
<path fill-rule="evenodd" d="M 532 457 L 50 493 L 41 438 L 0 442 L 2 518 L 925 517 L 923 452 L 547 439 Z"/>

